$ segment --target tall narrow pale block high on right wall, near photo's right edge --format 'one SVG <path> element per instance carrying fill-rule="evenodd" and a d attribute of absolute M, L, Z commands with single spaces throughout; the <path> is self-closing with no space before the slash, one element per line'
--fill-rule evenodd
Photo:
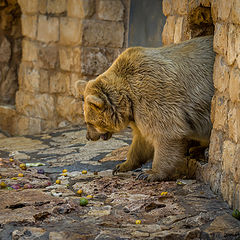
<path fill-rule="evenodd" d="M 227 64 L 232 65 L 236 59 L 237 53 L 235 50 L 236 27 L 233 24 L 229 25 L 227 38 Z"/>

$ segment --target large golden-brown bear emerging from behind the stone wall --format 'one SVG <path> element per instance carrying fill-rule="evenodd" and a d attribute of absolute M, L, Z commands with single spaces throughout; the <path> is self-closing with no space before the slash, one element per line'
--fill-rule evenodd
<path fill-rule="evenodd" d="M 114 173 L 141 167 L 148 181 L 171 177 L 188 140 L 208 144 L 215 53 L 212 36 L 160 48 L 132 47 L 84 91 L 87 139 L 108 140 L 132 128 L 127 160 Z"/>

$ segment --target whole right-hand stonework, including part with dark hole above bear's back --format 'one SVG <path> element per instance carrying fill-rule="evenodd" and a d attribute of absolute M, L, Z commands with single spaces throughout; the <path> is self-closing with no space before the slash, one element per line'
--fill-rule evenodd
<path fill-rule="evenodd" d="M 209 163 L 203 178 L 233 208 L 240 208 L 240 1 L 163 0 L 163 43 L 214 33 L 215 95 Z M 215 30 L 214 30 L 215 28 Z M 214 32 L 213 32 L 214 30 Z"/>

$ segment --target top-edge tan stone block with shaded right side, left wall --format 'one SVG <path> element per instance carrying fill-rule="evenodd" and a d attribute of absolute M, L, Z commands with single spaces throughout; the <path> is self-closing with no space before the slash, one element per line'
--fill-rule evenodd
<path fill-rule="evenodd" d="M 95 12 L 94 0 L 68 0 L 68 16 L 90 18 Z"/>

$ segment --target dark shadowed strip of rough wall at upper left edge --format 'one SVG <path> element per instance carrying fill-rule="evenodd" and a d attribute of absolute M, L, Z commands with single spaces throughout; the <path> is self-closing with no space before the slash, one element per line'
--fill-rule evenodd
<path fill-rule="evenodd" d="M 14 105 L 22 54 L 21 10 L 17 0 L 0 1 L 0 105 Z"/>

